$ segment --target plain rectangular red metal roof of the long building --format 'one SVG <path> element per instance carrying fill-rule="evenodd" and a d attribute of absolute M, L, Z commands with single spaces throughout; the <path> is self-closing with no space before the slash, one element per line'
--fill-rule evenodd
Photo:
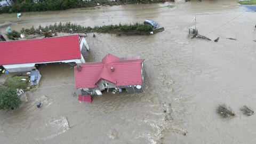
<path fill-rule="evenodd" d="M 0 65 L 81 59 L 78 35 L 0 42 Z"/>

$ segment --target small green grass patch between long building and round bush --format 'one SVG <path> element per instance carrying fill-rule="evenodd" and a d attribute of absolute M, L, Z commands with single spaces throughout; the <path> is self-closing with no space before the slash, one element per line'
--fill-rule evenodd
<path fill-rule="evenodd" d="M 26 81 L 21 81 L 22 78 L 25 78 Z M 25 90 L 29 85 L 29 77 L 28 76 L 14 76 L 6 79 L 4 85 L 7 87 L 13 87 L 15 89 L 23 89 Z"/>

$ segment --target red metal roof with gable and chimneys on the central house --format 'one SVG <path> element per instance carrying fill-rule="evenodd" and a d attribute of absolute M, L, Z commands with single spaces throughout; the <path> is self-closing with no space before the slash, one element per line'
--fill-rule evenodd
<path fill-rule="evenodd" d="M 75 70 L 76 88 L 97 87 L 100 79 L 114 83 L 115 86 L 142 84 L 141 62 L 143 59 L 124 60 L 107 54 L 102 62 L 83 63 Z M 114 71 L 111 71 L 111 67 Z"/>

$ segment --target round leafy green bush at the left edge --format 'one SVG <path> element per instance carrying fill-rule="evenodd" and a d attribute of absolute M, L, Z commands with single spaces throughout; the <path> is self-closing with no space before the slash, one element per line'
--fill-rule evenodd
<path fill-rule="evenodd" d="M 0 109 L 18 108 L 21 103 L 16 89 L 0 87 Z"/>

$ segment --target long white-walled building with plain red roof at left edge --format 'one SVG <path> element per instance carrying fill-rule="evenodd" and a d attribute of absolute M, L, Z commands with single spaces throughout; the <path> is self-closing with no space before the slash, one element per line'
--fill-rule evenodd
<path fill-rule="evenodd" d="M 0 42 L 0 65 L 9 72 L 30 71 L 36 64 L 84 63 L 81 51 L 89 51 L 86 35 Z"/>

